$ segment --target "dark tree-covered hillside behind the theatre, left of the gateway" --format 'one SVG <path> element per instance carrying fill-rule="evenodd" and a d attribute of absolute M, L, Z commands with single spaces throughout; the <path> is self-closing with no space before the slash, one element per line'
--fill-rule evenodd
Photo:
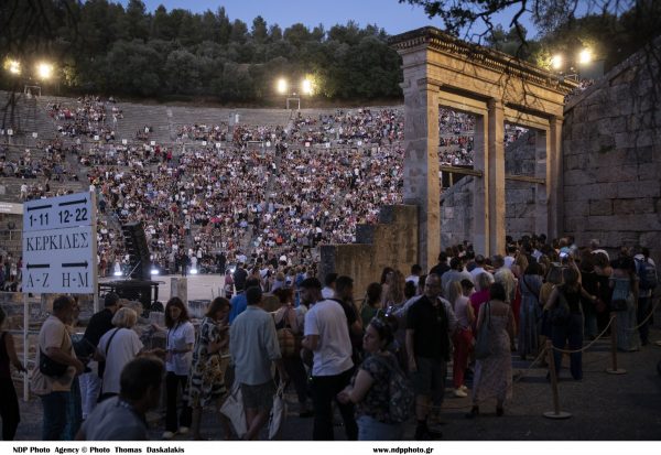
<path fill-rule="evenodd" d="M 0 34 L 1 56 L 24 66 L 35 55 L 58 62 L 65 90 L 260 101 L 274 96 L 275 77 L 297 85 L 308 76 L 319 84 L 321 97 L 401 95 L 399 56 L 376 25 L 349 22 L 326 31 L 296 23 L 282 30 L 262 17 L 250 24 L 231 20 L 224 8 L 196 14 L 160 6 L 150 13 L 141 0 L 126 7 L 108 0 L 8 0 L 0 13 L 0 20 L 12 18 Z M 26 45 L 13 45 L 18 36 Z M 0 77 L 7 86 L 7 76 Z"/>

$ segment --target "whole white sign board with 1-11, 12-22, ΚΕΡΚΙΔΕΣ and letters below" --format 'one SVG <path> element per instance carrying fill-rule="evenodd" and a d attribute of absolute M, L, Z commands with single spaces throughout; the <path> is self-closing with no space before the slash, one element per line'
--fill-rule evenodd
<path fill-rule="evenodd" d="M 94 193 L 24 204 L 23 292 L 96 292 L 95 206 Z"/>

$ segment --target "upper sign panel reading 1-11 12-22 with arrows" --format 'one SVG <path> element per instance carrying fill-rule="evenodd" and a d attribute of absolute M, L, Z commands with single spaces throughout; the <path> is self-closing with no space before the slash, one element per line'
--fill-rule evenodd
<path fill-rule="evenodd" d="M 51 230 L 73 226 L 91 226 L 93 204 L 89 193 L 34 199 L 23 205 L 23 231 Z"/>

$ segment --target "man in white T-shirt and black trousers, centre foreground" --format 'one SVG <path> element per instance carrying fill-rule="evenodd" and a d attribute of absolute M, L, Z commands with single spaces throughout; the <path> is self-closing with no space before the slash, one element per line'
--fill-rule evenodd
<path fill-rule="evenodd" d="M 314 403 L 314 441 L 333 441 L 333 408 L 335 400 L 345 423 L 347 440 L 358 438 L 354 405 L 337 401 L 337 394 L 351 380 L 351 340 L 347 317 L 342 305 L 322 296 L 322 283 L 307 278 L 300 285 L 301 300 L 312 305 L 305 314 L 303 347 L 314 355 L 312 389 Z"/>

